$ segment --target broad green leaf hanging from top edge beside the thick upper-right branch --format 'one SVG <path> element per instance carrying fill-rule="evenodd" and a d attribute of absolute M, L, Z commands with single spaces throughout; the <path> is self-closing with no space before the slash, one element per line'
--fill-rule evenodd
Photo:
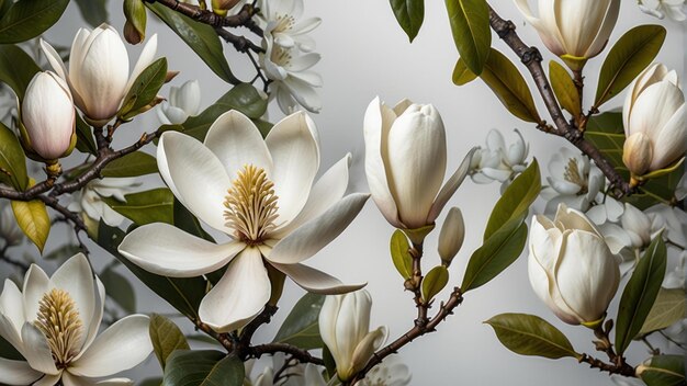
<path fill-rule="evenodd" d="M 446 0 L 453 42 L 465 65 L 476 75 L 487 61 L 492 45 L 489 8 L 485 0 Z"/>

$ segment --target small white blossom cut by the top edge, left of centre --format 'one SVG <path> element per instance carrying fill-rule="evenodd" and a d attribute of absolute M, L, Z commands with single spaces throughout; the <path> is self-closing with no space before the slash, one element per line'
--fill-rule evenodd
<path fill-rule="evenodd" d="M 306 35 L 315 30 L 322 19 L 303 16 L 303 0 L 260 0 L 260 19 L 264 24 L 266 34 L 272 35 L 275 45 L 282 48 L 296 47 L 304 53 L 315 49 L 315 41 Z"/>

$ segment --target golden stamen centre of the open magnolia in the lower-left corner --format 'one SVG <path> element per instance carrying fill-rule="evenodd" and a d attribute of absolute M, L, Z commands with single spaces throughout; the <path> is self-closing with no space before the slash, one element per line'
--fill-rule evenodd
<path fill-rule="evenodd" d="M 47 338 L 57 368 L 67 368 L 79 353 L 83 330 L 77 305 L 69 293 L 54 288 L 43 295 L 35 326 Z"/>

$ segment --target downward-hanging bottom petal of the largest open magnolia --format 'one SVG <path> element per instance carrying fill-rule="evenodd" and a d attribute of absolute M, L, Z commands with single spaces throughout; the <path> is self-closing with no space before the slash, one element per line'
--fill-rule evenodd
<path fill-rule="evenodd" d="M 246 248 L 201 302 L 201 320 L 217 332 L 239 329 L 270 299 L 271 284 L 258 248 Z"/>

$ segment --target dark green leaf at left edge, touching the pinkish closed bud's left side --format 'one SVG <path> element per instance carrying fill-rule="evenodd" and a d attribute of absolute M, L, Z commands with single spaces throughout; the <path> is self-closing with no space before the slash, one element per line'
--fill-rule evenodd
<path fill-rule="evenodd" d="M 24 92 L 38 71 L 41 68 L 23 49 L 9 44 L 0 45 L 0 81 L 14 91 L 20 102 L 24 100 Z"/>

